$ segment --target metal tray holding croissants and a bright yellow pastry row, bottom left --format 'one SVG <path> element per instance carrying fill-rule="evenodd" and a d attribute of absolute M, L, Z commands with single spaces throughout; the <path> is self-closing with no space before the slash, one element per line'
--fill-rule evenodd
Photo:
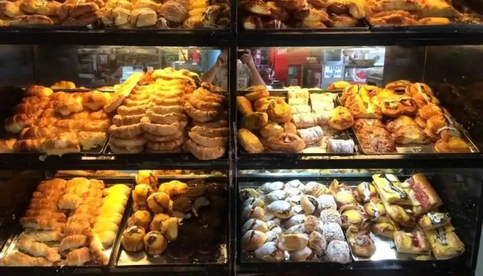
<path fill-rule="evenodd" d="M 59 177 L 61 179 L 69 179 L 69 178 L 65 178 L 65 177 Z M 94 178 L 94 177 L 88 177 L 88 179 L 97 179 L 97 178 Z M 107 180 L 107 181 L 106 181 Z M 117 179 L 115 179 L 117 180 Z M 128 180 L 128 179 L 123 179 L 123 180 Z M 109 181 L 108 179 L 104 179 L 103 181 L 106 181 L 106 182 L 110 182 L 109 183 L 105 183 L 106 184 L 106 188 L 109 188 L 110 186 L 113 186 L 115 184 L 118 184 L 118 183 L 121 183 L 121 181 L 117 180 L 117 181 Z M 122 184 L 125 184 L 127 185 L 131 190 L 132 190 L 132 181 L 126 181 L 128 183 L 122 183 Z M 126 207 L 124 208 L 124 212 L 122 214 L 122 219 L 121 219 L 121 222 L 119 224 L 119 228 L 117 229 L 117 233 L 116 233 L 116 237 L 114 239 L 114 242 L 112 242 L 112 246 L 110 246 L 110 248 L 107 248 L 106 250 L 103 250 L 103 253 L 104 255 L 108 256 L 108 259 L 109 259 L 109 262 L 108 264 L 110 264 L 112 262 L 112 259 L 114 257 L 114 252 L 115 252 L 115 248 L 116 248 L 116 245 L 119 243 L 120 239 L 121 239 L 121 235 L 122 235 L 122 231 L 121 229 L 121 226 L 123 226 L 124 224 L 126 224 L 126 221 L 127 221 L 127 217 L 128 217 L 128 210 L 131 209 L 131 206 L 132 206 L 132 197 L 129 196 L 128 198 L 128 202 L 126 203 Z M 15 252 L 18 252 L 18 251 L 21 251 L 19 250 L 19 248 L 17 248 L 17 240 L 19 239 L 21 233 L 23 232 L 23 229 L 21 228 L 21 226 L 18 226 L 15 230 L 14 230 L 14 233 L 12 233 L 12 235 L 10 236 L 10 238 L 7 240 L 5 246 L 3 246 L 3 249 L 0 251 L 0 258 L 1 257 L 5 257 L 9 254 L 12 254 L 12 253 L 15 253 Z M 49 247 L 52 247 L 52 248 L 57 248 L 57 246 L 59 246 L 59 242 L 47 242 L 46 243 Z M 65 259 L 66 256 L 64 255 L 61 255 L 62 256 L 62 259 Z M 62 266 L 61 264 L 59 264 L 58 266 Z M 85 266 L 101 266 L 99 264 L 95 264 L 95 262 L 88 262 Z"/>

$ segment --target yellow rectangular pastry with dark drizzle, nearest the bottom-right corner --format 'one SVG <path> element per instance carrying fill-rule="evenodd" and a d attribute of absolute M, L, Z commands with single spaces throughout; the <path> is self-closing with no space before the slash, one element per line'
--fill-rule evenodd
<path fill-rule="evenodd" d="M 436 259 L 450 259 L 464 253 L 464 244 L 455 233 L 453 226 L 426 230 L 426 239 Z"/>

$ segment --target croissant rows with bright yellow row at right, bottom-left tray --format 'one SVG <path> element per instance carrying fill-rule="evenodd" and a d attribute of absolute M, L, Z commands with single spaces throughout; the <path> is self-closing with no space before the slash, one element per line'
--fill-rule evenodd
<path fill-rule="evenodd" d="M 129 193 L 128 186 L 106 188 L 97 179 L 41 181 L 19 220 L 24 230 L 16 246 L 23 253 L 7 253 L 0 264 L 106 266 L 104 250 L 114 242 Z"/>

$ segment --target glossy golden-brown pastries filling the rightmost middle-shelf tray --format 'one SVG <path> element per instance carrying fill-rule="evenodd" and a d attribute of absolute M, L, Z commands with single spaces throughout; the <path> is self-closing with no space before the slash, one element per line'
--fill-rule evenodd
<path fill-rule="evenodd" d="M 353 128 L 366 152 L 397 152 L 396 145 L 433 143 L 435 152 L 471 152 L 457 124 L 425 83 L 401 80 L 385 88 L 348 86 L 340 100 L 356 118 Z"/>

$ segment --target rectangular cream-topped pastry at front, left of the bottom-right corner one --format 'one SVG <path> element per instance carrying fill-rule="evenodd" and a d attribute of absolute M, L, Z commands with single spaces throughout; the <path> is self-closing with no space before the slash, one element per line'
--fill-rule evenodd
<path fill-rule="evenodd" d="M 394 244 L 398 253 L 424 254 L 430 250 L 424 233 L 417 228 L 413 229 L 411 233 L 396 231 Z"/>

